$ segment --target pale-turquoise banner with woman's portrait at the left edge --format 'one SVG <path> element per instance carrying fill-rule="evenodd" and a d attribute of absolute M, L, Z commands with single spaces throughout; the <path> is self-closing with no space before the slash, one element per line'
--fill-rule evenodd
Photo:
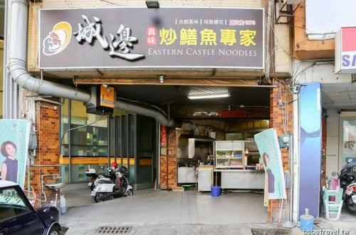
<path fill-rule="evenodd" d="M 0 177 L 21 188 L 25 184 L 30 127 L 27 120 L 0 120 Z"/>

